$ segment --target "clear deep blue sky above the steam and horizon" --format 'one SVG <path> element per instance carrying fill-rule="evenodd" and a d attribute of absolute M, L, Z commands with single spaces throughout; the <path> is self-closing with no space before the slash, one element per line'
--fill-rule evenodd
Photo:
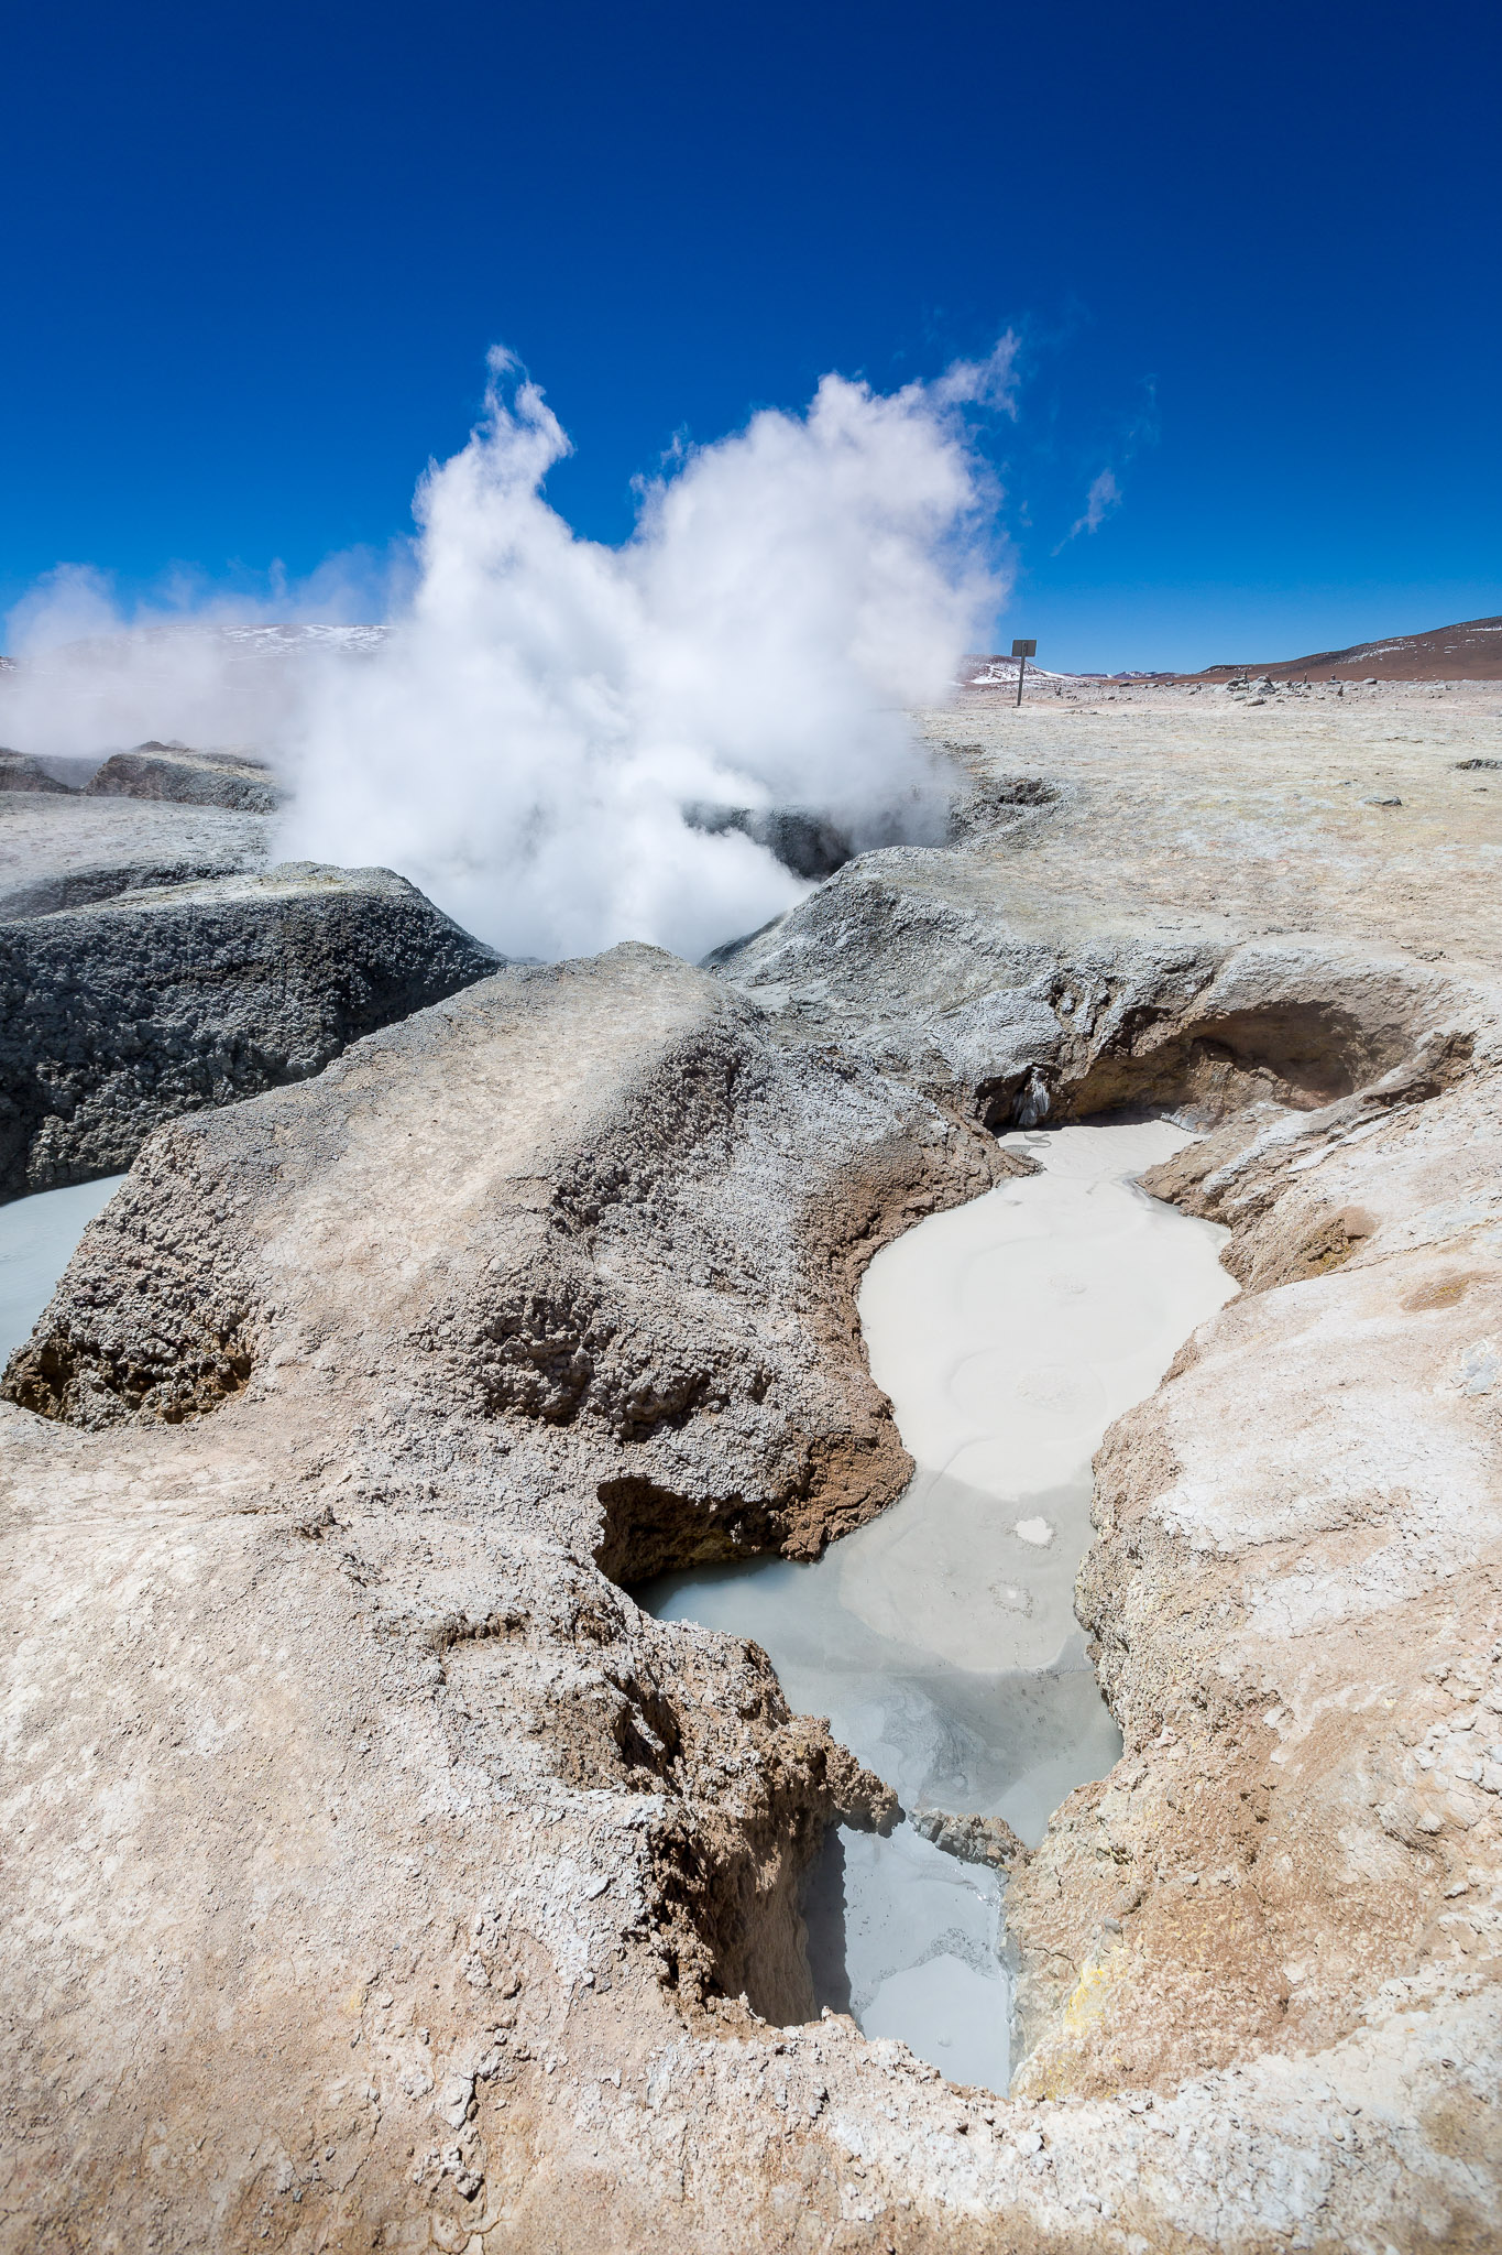
<path fill-rule="evenodd" d="M 511 345 L 631 478 L 1025 341 L 1043 663 L 1502 611 L 1493 7 L 70 5 L 5 34 L 0 607 L 408 530 Z M 1110 469 L 1121 501 L 1056 546 Z"/>

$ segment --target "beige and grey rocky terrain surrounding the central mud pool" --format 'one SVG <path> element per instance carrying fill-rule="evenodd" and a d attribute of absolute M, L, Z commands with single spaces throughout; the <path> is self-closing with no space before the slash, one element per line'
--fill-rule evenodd
<path fill-rule="evenodd" d="M 0 1407 L 0 2244 L 1497 2244 L 1491 803 L 1403 753 L 1416 897 L 1326 773 L 1374 710 L 977 706 L 955 843 L 712 970 L 455 965 L 408 904 L 441 997 L 142 1103 Z M 88 916 L 191 958 L 225 882 L 286 879 Z M 1002 2095 L 817 2016 L 804 1874 L 892 1788 L 626 1588 L 898 1497 L 867 1263 L 1124 1107 L 1200 1130 L 1148 1186 L 1241 1294 L 1097 1457 L 1124 1752 L 1011 1856 Z"/>

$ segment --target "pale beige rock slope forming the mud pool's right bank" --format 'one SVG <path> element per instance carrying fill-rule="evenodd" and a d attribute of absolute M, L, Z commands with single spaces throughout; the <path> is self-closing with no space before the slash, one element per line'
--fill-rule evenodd
<path fill-rule="evenodd" d="M 1250 1290 L 1097 1457 L 1126 1754 L 1013 1890 L 1022 2088 L 1317 2052 L 1502 1964 L 1500 1096 L 1293 1114 L 1178 1186 Z"/>

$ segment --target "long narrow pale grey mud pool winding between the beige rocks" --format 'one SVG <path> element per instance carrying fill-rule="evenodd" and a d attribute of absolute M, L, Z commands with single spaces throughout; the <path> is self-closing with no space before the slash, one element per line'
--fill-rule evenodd
<path fill-rule="evenodd" d="M 815 1565 L 669 1574 L 662 1619 L 754 1637 L 790 1705 L 903 1811 L 1000 1815 L 1034 1845 L 1121 1741 L 1074 1619 L 1090 1459 L 1236 1290 L 1225 1229 L 1139 1191 L 1171 1121 L 1016 1132 L 1038 1175 L 939 1213 L 871 1263 L 860 1319 L 917 1473 Z M 1004 2088 L 1002 1881 L 903 1818 L 831 1833 L 804 1903 L 822 2005 L 944 2075 Z"/>

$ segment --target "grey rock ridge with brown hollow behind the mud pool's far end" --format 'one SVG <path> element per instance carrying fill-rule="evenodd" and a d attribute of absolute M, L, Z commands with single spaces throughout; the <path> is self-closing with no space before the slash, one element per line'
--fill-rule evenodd
<path fill-rule="evenodd" d="M 838 1037 L 986 1128 L 1441 1085 L 1479 1008 L 1398 954 L 1040 900 L 1004 846 L 865 855 L 714 967 L 781 1040 Z"/>

